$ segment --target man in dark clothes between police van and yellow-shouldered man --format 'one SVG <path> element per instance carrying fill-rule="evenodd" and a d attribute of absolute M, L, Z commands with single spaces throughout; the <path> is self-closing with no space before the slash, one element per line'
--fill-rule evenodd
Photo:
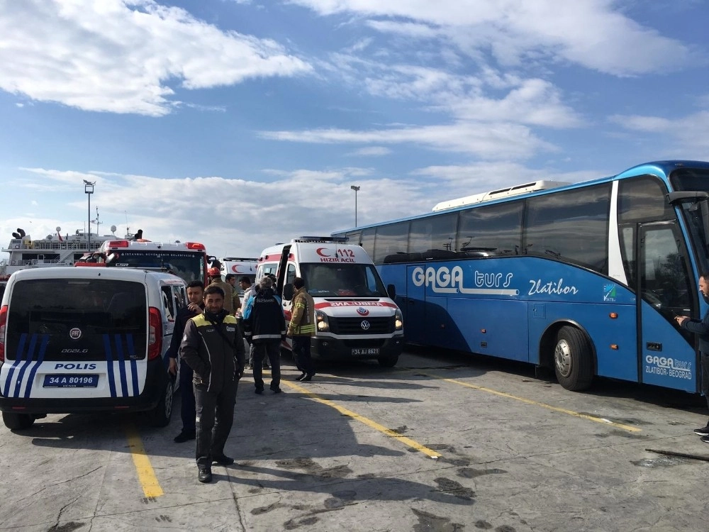
<path fill-rule="evenodd" d="M 167 350 L 170 365 L 169 372 L 177 375 L 177 356 L 179 355 L 179 345 L 182 342 L 184 328 L 187 326 L 189 318 L 194 318 L 202 313 L 204 308 L 204 287 L 201 281 L 191 281 L 187 284 L 187 306 L 177 311 L 175 317 L 175 328 L 172 332 L 172 340 Z M 182 431 L 175 436 L 175 443 L 183 443 L 187 440 L 194 440 L 194 390 L 192 389 L 192 368 L 186 364 L 179 368 L 179 389 L 180 389 L 180 416 L 182 417 Z"/>

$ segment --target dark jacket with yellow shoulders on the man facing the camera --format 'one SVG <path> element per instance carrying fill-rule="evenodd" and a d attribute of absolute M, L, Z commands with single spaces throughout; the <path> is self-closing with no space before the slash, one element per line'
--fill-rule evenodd
<path fill-rule="evenodd" d="M 236 318 L 226 311 L 210 321 L 203 312 L 187 321 L 180 345 L 182 361 L 194 370 L 194 382 L 207 384 L 207 391 L 221 392 L 224 382 L 242 375 L 244 342 Z"/>

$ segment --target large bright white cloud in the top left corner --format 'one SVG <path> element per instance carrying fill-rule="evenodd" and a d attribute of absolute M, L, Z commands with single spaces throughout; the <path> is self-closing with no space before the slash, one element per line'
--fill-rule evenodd
<path fill-rule="evenodd" d="M 177 85 L 311 71 L 272 40 L 221 31 L 154 0 L 2 2 L 0 35 L 0 89 L 90 111 L 162 116 L 177 103 Z"/>

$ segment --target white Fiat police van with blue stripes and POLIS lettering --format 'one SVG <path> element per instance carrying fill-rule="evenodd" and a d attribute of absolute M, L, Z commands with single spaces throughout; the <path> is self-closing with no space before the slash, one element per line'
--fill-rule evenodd
<path fill-rule="evenodd" d="M 0 411 L 28 428 L 45 414 L 172 416 L 166 353 L 185 283 L 163 272 L 48 267 L 11 275 L 0 307 Z"/>

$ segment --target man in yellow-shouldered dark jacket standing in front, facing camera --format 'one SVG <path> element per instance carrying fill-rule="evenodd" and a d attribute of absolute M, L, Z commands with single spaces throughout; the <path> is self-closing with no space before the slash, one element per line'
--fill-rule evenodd
<path fill-rule="evenodd" d="M 211 482 L 212 462 L 234 463 L 224 454 L 224 445 L 234 421 L 234 401 L 244 374 L 245 352 L 236 318 L 223 306 L 222 289 L 207 287 L 204 311 L 187 322 L 180 345 L 182 361 L 194 370 L 199 482 Z"/>

